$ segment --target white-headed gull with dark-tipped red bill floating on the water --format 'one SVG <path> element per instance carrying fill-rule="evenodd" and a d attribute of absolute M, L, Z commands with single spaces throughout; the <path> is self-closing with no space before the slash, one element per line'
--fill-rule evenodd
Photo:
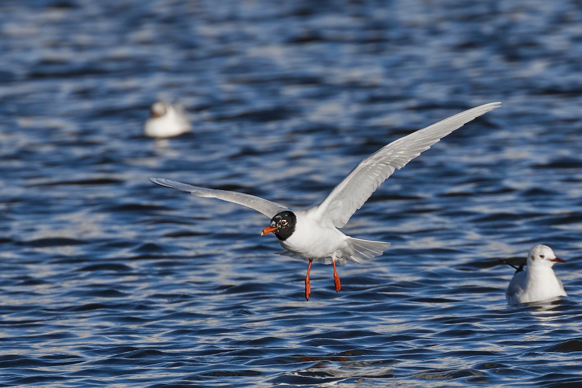
<path fill-rule="evenodd" d="M 535 245 L 527 255 L 527 270 L 523 270 L 523 266 L 516 268 L 517 271 L 509 282 L 505 292 L 508 304 L 538 302 L 566 296 L 562 282 L 552 269 L 555 263 L 565 262 L 556 257 L 552 248 L 547 245 Z"/>

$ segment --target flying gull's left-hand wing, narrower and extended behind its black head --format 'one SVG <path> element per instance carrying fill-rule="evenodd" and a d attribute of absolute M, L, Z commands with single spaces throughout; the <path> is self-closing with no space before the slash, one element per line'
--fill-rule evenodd
<path fill-rule="evenodd" d="M 175 188 L 176 190 L 188 191 L 196 197 L 203 198 L 218 198 L 222 201 L 233 202 L 234 204 L 239 204 L 256 210 L 257 212 L 264 214 L 268 218 L 273 218 L 276 213 L 282 212 L 283 210 L 289 210 L 286 206 L 277 204 L 276 202 L 271 202 L 264 200 L 260 197 L 255 197 L 254 195 L 237 193 L 236 191 L 228 190 L 214 190 L 212 188 L 191 186 L 190 184 L 180 183 L 169 179 L 163 178 L 150 178 L 150 180 L 160 186 L 166 186 Z"/>

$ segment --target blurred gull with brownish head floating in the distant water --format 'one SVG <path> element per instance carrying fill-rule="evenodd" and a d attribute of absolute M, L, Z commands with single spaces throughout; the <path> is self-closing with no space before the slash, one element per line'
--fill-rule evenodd
<path fill-rule="evenodd" d="M 150 118 L 145 122 L 145 136 L 165 138 L 190 131 L 190 120 L 182 106 L 156 101 L 150 108 Z"/>

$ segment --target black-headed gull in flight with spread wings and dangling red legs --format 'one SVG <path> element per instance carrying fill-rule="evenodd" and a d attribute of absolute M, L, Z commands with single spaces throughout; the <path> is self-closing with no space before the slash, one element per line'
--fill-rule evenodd
<path fill-rule="evenodd" d="M 286 250 L 281 253 L 307 259 L 310 263 L 307 273 L 314 259 L 324 264 L 333 264 L 336 291 L 339 291 L 336 262 L 340 265 L 347 261 L 360 263 L 381 255 L 390 243 L 355 239 L 346 236 L 338 228 L 346 225 L 353 213 L 395 170 L 402 168 L 442 137 L 500 105 L 501 102 L 492 102 L 477 106 L 393 141 L 361 161 L 321 204 L 306 210 L 292 212 L 284 205 L 233 191 L 190 186 L 161 178 L 151 178 L 151 181 L 189 191 L 197 197 L 234 202 L 271 218 L 271 225 L 263 233 L 275 233 Z M 307 275 L 306 298 L 309 297 L 308 290 Z"/>

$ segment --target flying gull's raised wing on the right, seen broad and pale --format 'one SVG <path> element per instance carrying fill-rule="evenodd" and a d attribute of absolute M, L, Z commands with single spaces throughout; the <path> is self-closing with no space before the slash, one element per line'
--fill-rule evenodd
<path fill-rule="evenodd" d="M 492 102 L 477 106 L 385 145 L 361 161 L 320 205 L 309 209 L 310 213 L 331 221 L 335 227 L 343 227 L 395 170 L 403 168 L 442 137 L 500 105 L 501 102 Z"/>

